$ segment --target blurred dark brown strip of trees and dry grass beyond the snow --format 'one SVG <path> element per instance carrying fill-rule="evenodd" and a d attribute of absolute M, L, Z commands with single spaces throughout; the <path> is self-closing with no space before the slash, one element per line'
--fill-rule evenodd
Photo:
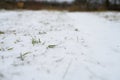
<path fill-rule="evenodd" d="M 120 0 L 0 0 L 0 9 L 120 11 Z"/>

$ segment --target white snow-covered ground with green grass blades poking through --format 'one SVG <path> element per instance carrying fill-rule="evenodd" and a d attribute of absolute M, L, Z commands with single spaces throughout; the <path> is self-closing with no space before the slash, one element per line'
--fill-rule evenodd
<path fill-rule="evenodd" d="M 0 80 L 120 80 L 120 12 L 0 10 Z"/>

